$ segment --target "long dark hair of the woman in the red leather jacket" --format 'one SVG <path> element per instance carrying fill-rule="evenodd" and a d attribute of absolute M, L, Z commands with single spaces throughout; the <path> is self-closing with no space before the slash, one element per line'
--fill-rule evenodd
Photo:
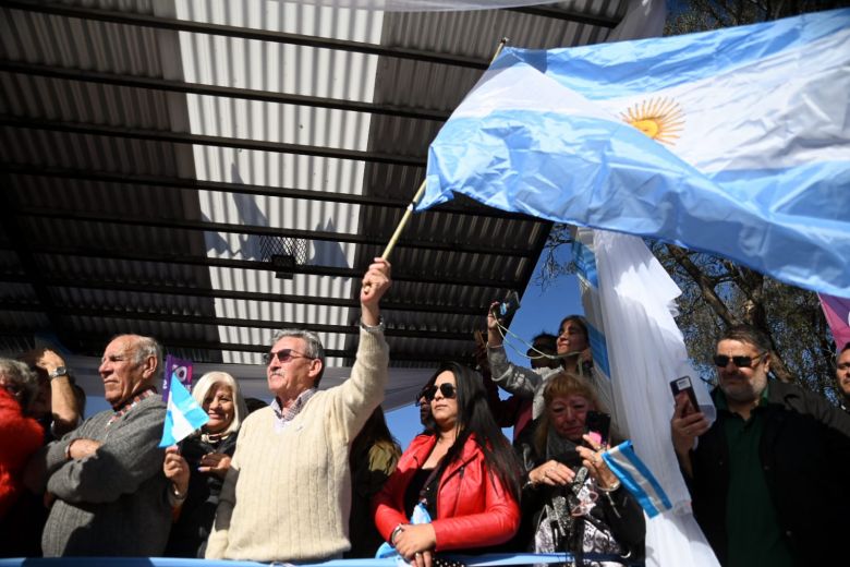
<path fill-rule="evenodd" d="M 487 391 L 484 389 L 481 375 L 474 370 L 458 362 L 444 362 L 430 377 L 426 387 L 433 386 L 437 376 L 449 371 L 454 375 L 458 399 L 458 438 L 446 454 L 446 465 L 461 458 L 463 446 L 470 435 L 474 435 L 475 444 L 484 453 L 484 460 L 490 474 L 494 472 L 510 494 L 519 500 L 520 463 L 508 439 L 502 434 L 487 403 Z M 428 418 L 426 425 L 432 431 L 438 431 L 434 417 Z"/>

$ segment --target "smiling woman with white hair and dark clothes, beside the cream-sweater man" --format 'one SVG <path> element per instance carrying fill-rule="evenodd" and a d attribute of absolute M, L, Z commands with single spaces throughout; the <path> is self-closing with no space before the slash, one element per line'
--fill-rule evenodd
<path fill-rule="evenodd" d="M 166 555 L 204 557 L 207 538 L 230 459 L 236 449 L 245 400 L 227 372 L 204 374 L 192 390 L 209 422 L 199 432 L 166 451 L 163 471 L 172 486 L 169 498 L 178 508 Z"/>

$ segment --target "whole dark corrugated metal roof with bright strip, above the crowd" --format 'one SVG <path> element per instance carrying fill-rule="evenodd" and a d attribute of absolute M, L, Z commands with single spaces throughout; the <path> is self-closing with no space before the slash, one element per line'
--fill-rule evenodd
<path fill-rule="evenodd" d="M 256 365 L 287 324 L 350 364 L 360 276 L 498 40 L 599 41 L 608 27 L 580 16 L 626 2 L 558 5 L 0 2 L 0 350 L 54 333 L 99 357 L 133 330 L 199 363 Z M 467 200 L 414 216 L 384 305 L 391 365 L 469 360 L 484 310 L 524 290 L 547 233 Z M 281 237 L 304 246 L 292 279 L 268 262 Z"/>

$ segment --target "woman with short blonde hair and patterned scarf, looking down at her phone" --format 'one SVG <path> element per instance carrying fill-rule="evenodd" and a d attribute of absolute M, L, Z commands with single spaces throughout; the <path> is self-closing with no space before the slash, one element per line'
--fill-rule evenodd
<path fill-rule="evenodd" d="M 570 552 L 576 565 L 584 565 L 586 553 L 641 560 L 643 510 L 602 459 L 607 432 L 587 429 L 588 418 L 596 419 L 594 427 L 606 426 L 596 390 L 585 378 L 561 372 L 548 381 L 543 398 L 543 415 L 514 444 L 525 470 L 519 545 L 535 553 Z"/>

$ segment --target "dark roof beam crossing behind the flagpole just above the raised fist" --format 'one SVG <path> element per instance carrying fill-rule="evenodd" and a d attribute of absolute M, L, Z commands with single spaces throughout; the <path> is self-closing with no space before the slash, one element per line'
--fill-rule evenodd
<path fill-rule="evenodd" d="M 222 232 L 228 234 L 251 234 L 255 237 L 278 237 L 293 238 L 300 240 L 319 240 L 324 242 L 345 242 L 360 245 L 385 245 L 391 234 L 367 236 L 347 232 L 328 232 L 324 230 L 298 230 L 276 227 L 264 227 L 257 225 L 232 225 L 229 222 L 212 222 L 208 220 L 183 220 L 169 219 L 162 217 L 143 218 L 136 215 L 119 215 L 117 213 L 92 213 L 88 210 L 74 210 L 66 208 L 47 208 L 47 207 L 19 207 L 20 216 L 51 218 L 63 221 L 75 222 L 99 222 L 109 225 L 122 225 L 133 227 L 150 227 L 174 230 L 192 230 L 201 232 Z M 519 258 L 531 258 L 532 253 L 527 250 L 510 250 L 500 246 L 489 246 L 479 243 L 464 242 L 437 242 L 401 239 L 398 248 L 416 250 L 436 250 L 441 252 L 459 252 L 467 254 L 510 256 Z"/>

